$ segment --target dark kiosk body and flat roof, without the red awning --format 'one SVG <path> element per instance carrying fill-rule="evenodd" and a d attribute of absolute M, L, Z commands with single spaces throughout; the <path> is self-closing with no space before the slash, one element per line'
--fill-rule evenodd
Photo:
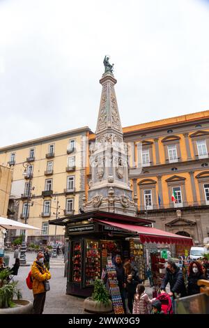
<path fill-rule="evenodd" d="M 137 237 L 135 232 L 114 228 L 98 220 L 114 220 L 137 225 L 149 225 L 153 221 L 95 211 L 77 214 L 56 220 L 57 225 L 65 225 L 65 238 L 69 239 L 68 279 L 66 294 L 88 297 L 92 295 L 93 284 L 100 278 L 107 258 L 120 254 L 130 257 L 130 242 L 127 237 Z M 50 224 L 54 224 L 50 221 Z"/>

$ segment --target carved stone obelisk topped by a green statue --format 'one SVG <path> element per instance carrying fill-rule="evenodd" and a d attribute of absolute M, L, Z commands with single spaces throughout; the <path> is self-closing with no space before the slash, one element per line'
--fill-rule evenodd
<path fill-rule="evenodd" d="M 100 80 L 102 95 L 95 144 L 91 148 L 91 173 L 88 201 L 84 198 L 84 211 L 109 211 L 137 215 L 137 197 L 132 198 L 128 181 L 127 147 L 123 142 L 121 119 L 114 85 L 116 79 L 109 57 L 104 57 L 104 74 Z"/>

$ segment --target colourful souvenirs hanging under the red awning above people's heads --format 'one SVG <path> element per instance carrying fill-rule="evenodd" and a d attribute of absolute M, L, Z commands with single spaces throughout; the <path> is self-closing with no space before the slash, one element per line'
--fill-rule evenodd
<path fill-rule="evenodd" d="M 130 239 L 130 257 L 134 256 L 134 266 L 137 267 L 139 278 L 145 280 L 144 246 L 139 241 Z"/>

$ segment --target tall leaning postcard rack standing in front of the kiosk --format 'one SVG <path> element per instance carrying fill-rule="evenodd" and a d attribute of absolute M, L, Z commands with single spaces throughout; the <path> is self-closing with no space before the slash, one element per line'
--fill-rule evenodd
<path fill-rule="evenodd" d="M 115 314 L 124 314 L 123 302 L 121 299 L 120 289 L 118 287 L 118 279 L 116 276 L 116 267 L 114 264 L 107 266 L 107 279 L 109 283 L 109 292 L 111 295 L 112 306 Z"/>

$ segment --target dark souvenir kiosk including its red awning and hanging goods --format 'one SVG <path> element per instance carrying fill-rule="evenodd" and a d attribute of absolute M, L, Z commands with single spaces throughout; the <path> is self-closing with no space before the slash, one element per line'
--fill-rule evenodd
<path fill-rule="evenodd" d="M 163 230 L 148 227 L 153 221 L 134 216 L 125 216 L 104 211 L 91 211 L 49 221 L 53 225 L 65 225 L 65 239 L 68 239 L 68 274 L 66 294 L 88 297 L 92 295 L 93 284 L 100 278 L 107 258 L 116 254 L 122 258 L 135 252 L 139 273 L 144 274 L 144 243 L 189 243 L 192 239 Z M 126 239 L 140 239 L 132 243 Z M 155 286 L 159 287 L 165 270 L 165 260 L 153 257 L 152 270 Z"/>

